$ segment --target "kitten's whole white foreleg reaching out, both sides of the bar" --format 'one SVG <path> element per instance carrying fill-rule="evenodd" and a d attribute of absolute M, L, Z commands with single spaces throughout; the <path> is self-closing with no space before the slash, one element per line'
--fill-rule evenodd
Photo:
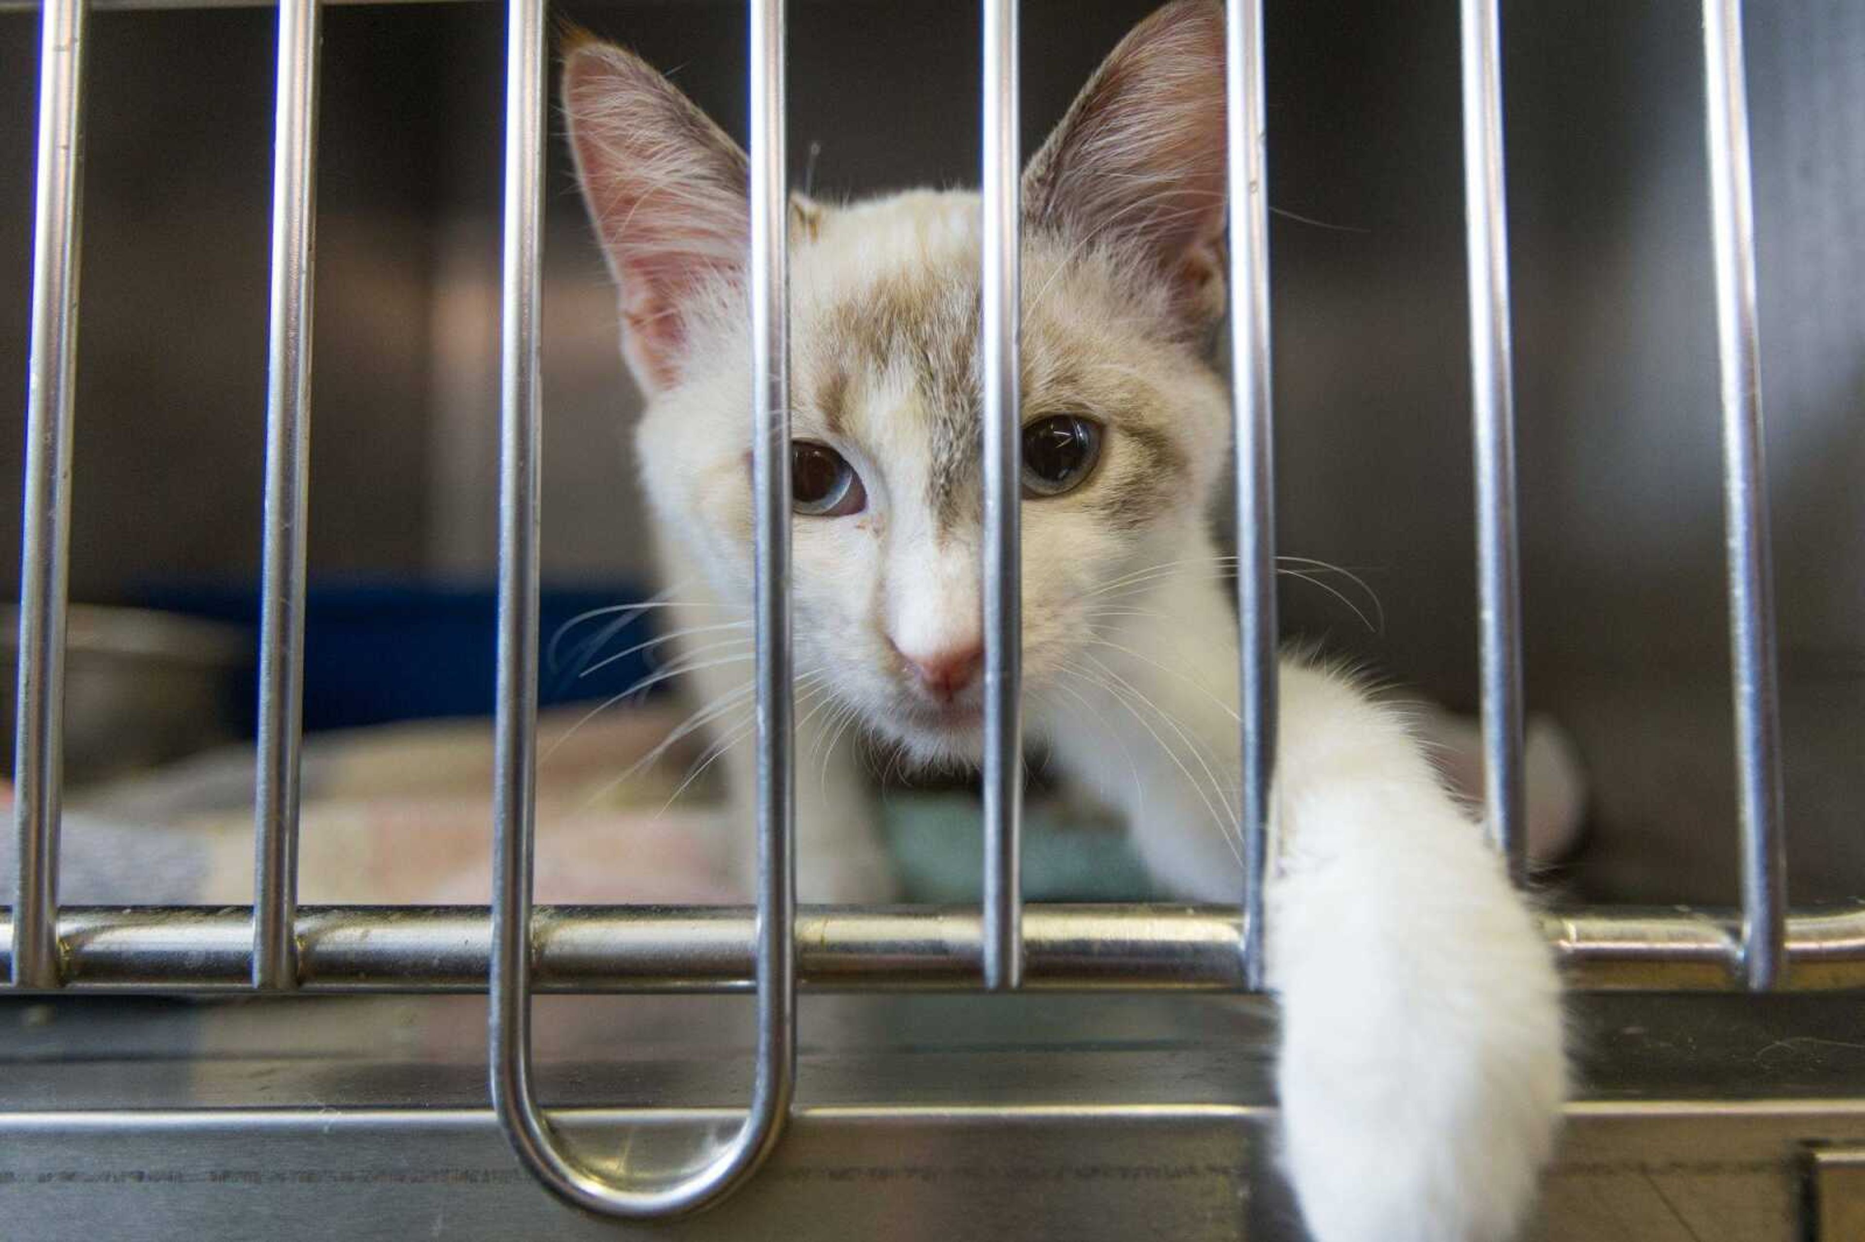
<path fill-rule="evenodd" d="M 1236 901 L 1220 832 L 1236 796 L 1235 621 L 1201 574 L 1147 612 L 1156 628 L 1130 623 L 1110 638 L 1128 651 L 1104 649 L 1095 669 L 1100 712 L 1145 781 L 1125 800 L 1136 845 L 1184 895 Z M 1278 724 L 1266 945 L 1285 1164 L 1309 1229 L 1317 1242 L 1509 1238 L 1567 1083 L 1537 923 L 1395 712 L 1283 662 Z M 1057 735 L 1071 768 L 1126 763 L 1093 733 Z"/>

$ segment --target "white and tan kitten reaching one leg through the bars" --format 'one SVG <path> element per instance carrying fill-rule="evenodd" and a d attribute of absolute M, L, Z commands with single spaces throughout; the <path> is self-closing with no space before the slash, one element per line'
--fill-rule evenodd
<path fill-rule="evenodd" d="M 573 35 L 578 181 L 645 395 L 642 479 L 686 668 L 748 703 L 744 153 L 632 54 Z M 1229 401 L 1223 17 L 1179 0 L 1108 56 L 1024 172 L 1024 701 L 1149 871 L 1236 901 L 1236 630 L 1209 515 Z M 794 196 L 796 781 L 804 901 L 893 893 L 850 722 L 918 763 L 981 746 L 979 203 Z M 1283 658 L 1268 981 L 1283 1167 L 1317 1242 L 1499 1242 L 1567 1093 L 1529 903 L 1404 718 Z M 729 740 L 729 735 L 724 737 Z M 750 748 L 727 780 L 750 821 Z M 830 766 L 834 765 L 834 766 Z M 752 850 L 729 850 L 752 858 Z"/>

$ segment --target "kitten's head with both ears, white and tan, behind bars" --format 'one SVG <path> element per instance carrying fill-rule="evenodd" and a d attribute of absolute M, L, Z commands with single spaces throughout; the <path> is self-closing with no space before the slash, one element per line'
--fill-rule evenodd
<path fill-rule="evenodd" d="M 629 52 L 582 41 L 578 179 L 647 395 L 643 479 L 679 580 L 750 600 L 744 153 Z M 1024 172 L 1022 615 L 1031 701 L 1065 696 L 1136 571 L 1205 546 L 1229 438 L 1223 21 L 1138 26 Z M 796 668 L 923 759 L 979 742 L 979 203 L 791 211 Z M 1141 578 L 1143 582 L 1143 578 Z M 1067 701 L 1065 697 L 1061 699 Z"/>

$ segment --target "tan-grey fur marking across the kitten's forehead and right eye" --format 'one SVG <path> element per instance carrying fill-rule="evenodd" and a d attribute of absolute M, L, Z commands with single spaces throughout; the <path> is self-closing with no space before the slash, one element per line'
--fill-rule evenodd
<path fill-rule="evenodd" d="M 886 453 L 912 453 L 901 481 L 912 479 L 914 500 L 947 533 L 981 518 L 977 244 L 953 228 L 970 228 L 975 205 L 962 218 L 921 207 L 826 213 L 821 246 L 804 259 L 804 393 L 828 435 L 880 453 L 882 468 Z M 1024 421 L 1085 414 L 1112 440 L 1097 476 L 1056 504 L 1145 526 L 1177 509 L 1201 474 L 1175 393 L 1182 369 L 1203 362 L 1166 330 L 1153 287 L 1108 255 L 1041 231 L 1024 241 Z"/>

